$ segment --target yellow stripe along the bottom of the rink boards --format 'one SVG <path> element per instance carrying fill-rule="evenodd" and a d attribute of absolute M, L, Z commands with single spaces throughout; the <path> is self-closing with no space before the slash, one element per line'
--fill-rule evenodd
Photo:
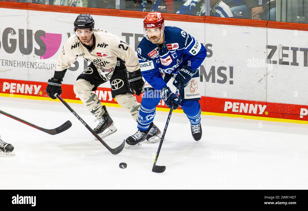
<path fill-rule="evenodd" d="M 39 97 L 39 96 L 29 96 L 29 95 L 16 95 L 16 94 L 6 94 L 0 93 L 1 97 L 17 97 L 17 98 L 25 98 L 25 99 L 32 99 L 32 100 L 49 100 L 49 101 L 58 101 L 59 99 L 53 100 L 50 97 Z M 65 100 L 67 103 L 79 103 L 82 104 L 81 100 Z M 115 103 L 104 103 L 106 106 L 113 106 L 113 107 L 121 107 L 119 104 Z M 169 108 L 156 108 L 156 111 L 170 111 Z M 184 113 L 181 109 L 173 110 L 176 113 Z M 210 116 L 226 116 L 226 117 L 233 117 L 233 118 L 243 118 L 243 119 L 255 119 L 255 120 L 263 120 L 263 121 L 271 121 L 271 122 L 286 122 L 286 123 L 297 123 L 297 124 L 308 124 L 308 121 L 303 120 L 294 120 L 294 119 L 279 119 L 279 118 L 272 118 L 272 117 L 262 117 L 262 116 L 249 116 L 249 115 L 240 115 L 240 114 L 224 114 L 224 113 L 214 113 L 214 112 L 206 112 L 201 111 L 202 115 L 210 115 Z"/>

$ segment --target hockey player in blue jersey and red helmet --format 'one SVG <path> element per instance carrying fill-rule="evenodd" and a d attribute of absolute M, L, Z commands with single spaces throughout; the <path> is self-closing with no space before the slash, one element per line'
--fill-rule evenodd
<path fill-rule="evenodd" d="M 147 136 L 156 136 L 152 127 L 156 106 L 163 99 L 168 107 L 182 107 L 187 115 L 193 138 L 202 136 L 198 68 L 206 57 L 205 47 L 180 28 L 164 26 L 159 12 L 150 12 L 144 19 L 144 38 L 137 53 L 142 76 L 146 80 L 138 117 L 138 131 L 126 139 L 125 148 L 140 146 Z M 167 86 L 180 86 L 177 97 Z M 159 140 L 158 140 L 159 141 Z"/>

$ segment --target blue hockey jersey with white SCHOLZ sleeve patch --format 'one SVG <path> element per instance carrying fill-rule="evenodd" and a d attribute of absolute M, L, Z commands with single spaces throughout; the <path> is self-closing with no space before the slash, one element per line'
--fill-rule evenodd
<path fill-rule="evenodd" d="M 206 57 L 205 47 L 180 28 L 166 26 L 162 48 L 143 38 L 137 53 L 144 79 L 154 88 L 167 87 L 161 73 L 177 74 L 182 65 L 200 67 Z"/>

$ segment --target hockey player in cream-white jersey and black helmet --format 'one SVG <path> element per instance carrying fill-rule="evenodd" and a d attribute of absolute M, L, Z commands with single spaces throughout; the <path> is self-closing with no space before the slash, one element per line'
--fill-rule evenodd
<path fill-rule="evenodd" d="M 63 45 L 54 77 L 48 80 L 47 94 L 56 99 L 55 94 L 62 93 L 61 84 L 65 72 L 78 57 L 91 62 L 77 77 L 74 92 L 99 121 L 94 131 L 101 138 L 116 131 L 106 106 L 102 106 L 93 93 L 100 84 L 108 80 L 112 97 L 137 121 L 140 103 L 133 94 L 140 95 L 144 88 L 137 54 L 120 37 L 105 30 L 94 29 L 94 20 L 90 14 L 80 14 L 76 18 L 74 34 Z M 153 137 L 159 133 L 157 128 Z"/>

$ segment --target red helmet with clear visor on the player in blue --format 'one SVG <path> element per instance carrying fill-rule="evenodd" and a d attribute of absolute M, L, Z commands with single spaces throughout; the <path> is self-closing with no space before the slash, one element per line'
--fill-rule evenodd
<path fill-rule="evenodd" d="M 160 30 L 156 30 L 154 28 L 160 28 Z M 150 36 L 155 35 L 158 37 L 160 33 L 160 38 L 158 41 L 156 40 L 155 43 L 159 42 L 160 39 L 163 37 L 164 28 L 165 28 L 164 17 L 160 12 L 149 12 L 147 16 L 144 18 L 143 21 L 144 37 L 146 37 L 148 40 L 150 40 L 148 37 L 149 35 Z"/>

